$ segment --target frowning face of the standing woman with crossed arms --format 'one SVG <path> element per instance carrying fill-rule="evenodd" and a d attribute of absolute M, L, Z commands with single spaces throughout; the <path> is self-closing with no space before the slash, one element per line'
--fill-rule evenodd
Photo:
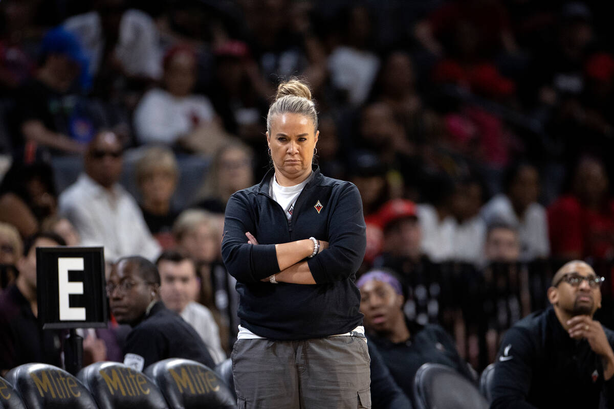
<path fill-rule="evenodd" d="M 273 117 L 266 140 L 280 185 L 297 185 L 308 177 L 319 133 L 305 115 L 282 113 Z"/>

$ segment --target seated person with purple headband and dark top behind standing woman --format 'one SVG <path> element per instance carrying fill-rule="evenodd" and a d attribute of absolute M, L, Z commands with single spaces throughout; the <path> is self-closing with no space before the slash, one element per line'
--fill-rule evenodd
<path fill-rule="evenodd" d="M 413 396 L 416 371 L 426 362 L 447 365 L 474 381 L 452 338 L 433 324 L 422 326 L 403 315 L 402 285 L 395 273 L 373 269 L 360 276 L 360 312 L 365 315 L 368 340 L 373 342 L 392 378 L 407 396 Z"/>

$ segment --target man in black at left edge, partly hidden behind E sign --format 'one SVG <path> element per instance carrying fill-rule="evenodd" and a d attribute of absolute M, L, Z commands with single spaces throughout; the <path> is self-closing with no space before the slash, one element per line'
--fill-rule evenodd
<path fill-rule="evenodd" d="M 0 374 L 29 362 L 61 367 L 61 332 L 41 329 L 36 289 L 36 248 L 64 245 L 53 233 L 37 234 L 26 240 L 18 259 L 19 275 L 0 294 Z"/>

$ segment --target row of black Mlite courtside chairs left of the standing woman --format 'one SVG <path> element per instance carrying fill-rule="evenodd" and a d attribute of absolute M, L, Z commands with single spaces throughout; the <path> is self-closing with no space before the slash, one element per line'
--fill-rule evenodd
<path fill-rule="evenodd" d="M 53 365 L 24 364 L 0 378 L 4 408 L 234 409 L 236 398 L 214 370 L 188 359 L 165 359 L 144 372 L 96 362 L 77 377 Z"/>

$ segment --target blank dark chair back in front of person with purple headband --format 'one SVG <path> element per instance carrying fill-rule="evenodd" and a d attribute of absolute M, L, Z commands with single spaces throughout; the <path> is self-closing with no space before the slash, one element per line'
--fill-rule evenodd
<path fill-rule="evenodd" d="M 441 364 L 424 364 L 414 378 L 417 409 L 488 409 L 478 388 L 454 369 Z"/>

